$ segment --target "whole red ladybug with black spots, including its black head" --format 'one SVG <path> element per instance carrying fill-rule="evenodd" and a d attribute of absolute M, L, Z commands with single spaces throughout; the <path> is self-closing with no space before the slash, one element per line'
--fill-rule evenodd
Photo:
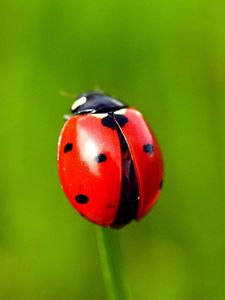
<path fill-rule="evenodd" d="M 58 143 L 58 172 L 72 206 L 120 228 L 152 208 L 163 183 L 158 142 L 142 114 L 99 92 L 81 94 Z"/>

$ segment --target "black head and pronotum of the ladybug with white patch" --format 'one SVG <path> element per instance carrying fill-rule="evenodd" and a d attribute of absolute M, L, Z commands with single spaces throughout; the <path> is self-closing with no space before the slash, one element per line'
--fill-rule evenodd
<path fill-rule="evenodd" d="M 107 113 L 127 107 L 119 100 L 99 92 L 89 92 L 81 94 L 74 104 L 71 111 L 74 114 L 95 114 Z"/>

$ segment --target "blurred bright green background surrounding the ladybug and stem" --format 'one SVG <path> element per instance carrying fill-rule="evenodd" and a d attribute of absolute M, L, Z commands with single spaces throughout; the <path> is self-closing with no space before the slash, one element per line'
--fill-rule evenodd
<path fill-rule="evenodd" d="M 160 201 L 117 231 L 133 299 L 225 299 L 225 4 L 0 3 L 0 299 L 105 299 L 96 226 L 65 198 L 56 148 L 72 99 L 138 107 L 165 160 Z"/>

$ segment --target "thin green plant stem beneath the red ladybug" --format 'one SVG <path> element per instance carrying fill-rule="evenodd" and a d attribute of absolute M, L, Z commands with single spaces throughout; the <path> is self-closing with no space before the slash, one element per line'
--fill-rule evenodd
<path fill-rule="evenodd" d="M 108 300 L 129 300 L 123 275 L 118 232 L 98 226 L 97 238 Z"/>

